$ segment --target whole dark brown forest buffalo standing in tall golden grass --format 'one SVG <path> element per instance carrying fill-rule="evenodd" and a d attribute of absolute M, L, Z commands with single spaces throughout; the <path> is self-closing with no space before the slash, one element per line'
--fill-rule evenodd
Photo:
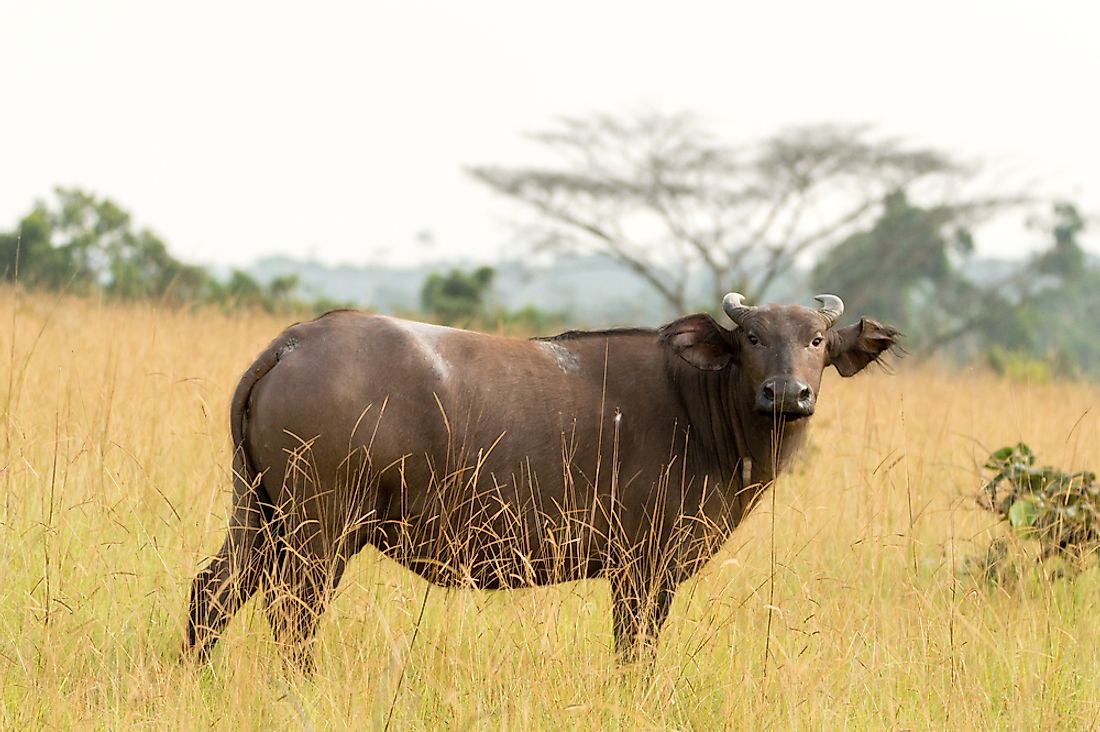
<path fill-rule="evenodd" d="M 206 658 L 257 590 L 287 660 L 367 544 L 437 584 L 605 577 L 624 663 L 651 653 L 676 587 L 722 547 L 798 449 L 823 370 L 895 345 L 869 318 L 747 306 L 727 329 L 521 340 L 338 310 L 287 328 L 241 378 L 229 534 L 191 588 Z"/>

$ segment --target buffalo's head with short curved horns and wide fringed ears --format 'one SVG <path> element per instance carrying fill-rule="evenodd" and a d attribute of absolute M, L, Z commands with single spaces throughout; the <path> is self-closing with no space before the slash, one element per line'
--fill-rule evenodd
<path fill-rule="evenodd" d="M 843 376 L 858 373 L 897 345 L 895 328 L 870 318 L 834 328 L 844 313 L 836 295 L 818 295 L 818 309 L 801 305 L 749 306 L 737 293 L 723 308 L 728 330 L 708 315 L 690 315 L 661 328 L 661 340 L 697 369 L 736 368 L 735 386 L 760 415 L 790 419 L 814 413 L 822 372 L 832 365 Z"/>

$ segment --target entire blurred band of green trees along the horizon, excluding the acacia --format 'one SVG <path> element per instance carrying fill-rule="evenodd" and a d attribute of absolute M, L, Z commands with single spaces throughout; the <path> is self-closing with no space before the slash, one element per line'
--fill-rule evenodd
<path fill-rule="evenodd" d="M 945 207 L 920 207 L 901 189 L 879 203 L 878 216 L 798 272 L 802 287 L 844 297 L 853 316 L 870 315 L 905 334 L 915 358 L 946 354 L 1027 379 L 1100 378 L 1100 269 L 1090 266 L 1080 236 L 1086 222 L 1070 203 L 1032 221 L 1042 247 L 1000 274 L 968 270 L 975 250 L 967 227 Z M 0 232 L 0 273 L 22 286 L 106 299 L 210 305 L 316 314 L 348 306 L 302 298 L 296 274 L 266 283 L 240 270 L 226 278 L 182 262 L 109 198 L 57 188 L 14 230 Z M 494 303 L 495 271 L 452 269 L 430 274 L 420 312 L 438 323 L 487 330 L 544 334 L 565 326 L 564 313 L 507 310 Z M 734 288 L 730 286 L 729 288 Z M 717 309 L 717 302 L 690 309 Z"/>

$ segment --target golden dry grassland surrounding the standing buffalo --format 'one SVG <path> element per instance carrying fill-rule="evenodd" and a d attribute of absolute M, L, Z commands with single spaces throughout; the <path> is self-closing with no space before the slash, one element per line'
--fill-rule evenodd
<path fill-rule="evenodd" d="M 681 588 L 651 674 L 616 668 L 604 582 L 436 588 L 415 634 L 427 584 L 370 549 L 311 678 L 284 671 L 254 602 L 210 666 L 182 664 L 190 581 L 229 507 L 229 395 L 285 325 L 0 291 L 4 729 L 1100 720 L 1098 571 L 1012 592 L 959 571 L 1001 531 L 972 501 L 989 450 L 1100 468 L 1100 391 L 912 362 L 826 376 L 803 458 Z"/>

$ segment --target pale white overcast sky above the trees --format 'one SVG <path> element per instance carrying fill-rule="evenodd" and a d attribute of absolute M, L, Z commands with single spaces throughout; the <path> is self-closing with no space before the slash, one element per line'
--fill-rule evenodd
<path fill-rule="evenodd" d="M 0 0 L 0 229 L 63 184 L 188 261 L 407 262 L 425 230 L 432 256 L 493 258 L 521 211 L 462 166 L 642 105 L 733 141 L 870 122 L 1096 216 L 1098 29 L 1084 1 Z"/>

